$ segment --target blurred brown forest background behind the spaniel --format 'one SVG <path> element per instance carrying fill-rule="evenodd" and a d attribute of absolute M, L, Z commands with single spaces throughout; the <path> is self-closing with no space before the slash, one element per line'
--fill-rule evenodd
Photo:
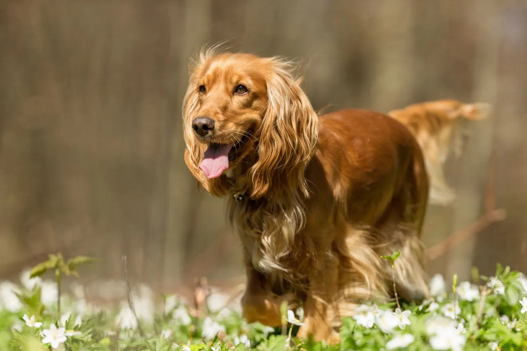
<path fill-rule="evenodd" d="M 198 190 L 181 135 L 189 58 L 226 40 L 301 59 L 316 109 L 491 103 L 447 165 L 458 198 L 429 207 L 425 242 L 493 201 L 507 217 L 428 271 L 527 270 L 526 1 L 4 0 L 0 279 L 60 251 L 101 257 L 88 276 L 116 279 L 126 254 L 134 279 L 164 290 L 242 281 L 223 200 Z"/>

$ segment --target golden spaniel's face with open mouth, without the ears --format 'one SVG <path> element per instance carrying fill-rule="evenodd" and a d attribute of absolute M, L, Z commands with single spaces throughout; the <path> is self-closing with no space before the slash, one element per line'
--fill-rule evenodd
<path fill-rule="evenodd" d="M 254 153 L 268 72 L 268 62 L 247 54 L 218 55 L 194 71 L 189 89 L 197 94 L 197 108 L 185 123 L 200 144 L 199 168 L 209 179 Z"/>

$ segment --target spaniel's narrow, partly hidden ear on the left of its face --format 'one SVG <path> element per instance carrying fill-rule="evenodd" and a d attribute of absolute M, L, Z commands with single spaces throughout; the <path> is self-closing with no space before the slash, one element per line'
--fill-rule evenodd
<path fill-rule="evenodd" d="M 209 179 L 200 171 L 199 165 L 203 161 L 206 145 L 197 141 L 192 131 L 192 120 L 197 117 L 199 105 L 199 94 L 197 77 L 204 69 L 207 60 L 214 54 L 215 47 L 201 51 L 198 59 L 190 67 L 190 79 L 187 92 L 183 98 L 183 138 L 187 148 L 185 149 L 185 163 L 190 173 L 198 179 L 198 182 L 214 196 L 223 196 L 227 192 L 227 179 L 225 176 Z"/>

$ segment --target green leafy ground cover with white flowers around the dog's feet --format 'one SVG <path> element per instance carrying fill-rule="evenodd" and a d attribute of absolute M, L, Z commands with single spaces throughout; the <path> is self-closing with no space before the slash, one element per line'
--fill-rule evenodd
<path fill-rule="evenodd" d="M 494 277 L 476 276 L 477 282 L 462 282 L 448 288 L 442 277 L 436 276 L 431 282 L 433 298 L 419 305 L 402 302 L 395 312 L 395 302 L 362 305 L 354 318 L 343 320 L 341 343 L 328 346 L 290 337 L 298 328 L 294 325 L 287 325 L 286 333 L 282 334 L 282 328 L 247 324 L 236 308 L 216 312 L 207 309 L 194 318 L 192 309 L 177 296 L 157 298 L 144 285 L 126 294 L 128 282 L 120 286 L 124 295 L 118 305 L 91 304 L 79 286 L 72 292 L 57 289 L 64 273 L 61 269 L 65 267 L 66 272 L 76 274 L 77 264 L 68 266 L 59 255 L 50 257 L 53 264 L 37 265 L 33 270 L 35 278 L 30 279 L 25 272 L 20 284 L 0 283 L 0 350 L 527 348 L 527 279 L 500 265 Z M 69 262 L 83 264 L 91 260 Z M 38 277 L 49 270 L 54 273 L 55 282 Z M 57 330 L 53 330 L 52 324 Z"/>

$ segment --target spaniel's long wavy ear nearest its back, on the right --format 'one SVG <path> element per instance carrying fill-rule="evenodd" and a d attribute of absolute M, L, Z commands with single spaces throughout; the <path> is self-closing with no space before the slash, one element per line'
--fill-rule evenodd
<path fill-rule="evenodd" d="M 252 198 L 300 190 L 309 196 L 304 171 L 315 152 L 318 117 L 292 74 L 272 58 L 267 107 L 259 131 L 258 161 L 250 169 Z"/>

